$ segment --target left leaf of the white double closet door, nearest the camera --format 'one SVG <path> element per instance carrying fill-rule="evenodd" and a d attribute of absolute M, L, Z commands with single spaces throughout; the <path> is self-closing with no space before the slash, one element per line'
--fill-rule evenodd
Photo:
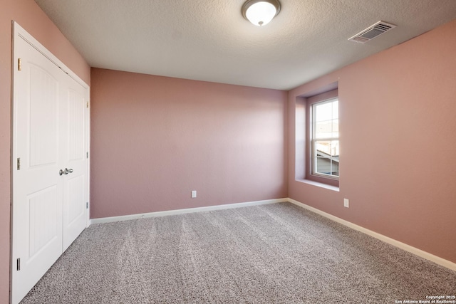
<path fill-rule="evenodd" d="M 21 71 L 14 78 L 13 302 L 61 255 L 63 231 L 63 179 L 58 174 L 61 71 L 23 39 L 16 43 Z"/>

